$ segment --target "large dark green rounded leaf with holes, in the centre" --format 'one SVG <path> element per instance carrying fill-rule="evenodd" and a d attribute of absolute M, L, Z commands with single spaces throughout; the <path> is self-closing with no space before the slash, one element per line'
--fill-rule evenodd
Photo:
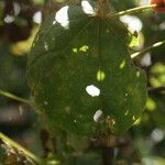
<path fill-rule="evenodd" d="M 28 78 L 53 132 L 92 135 L 99 128 L 121 134 L 141 116 L 146 78 L 131 62 L 128 42 L 121 22 L 85 4 L 66 6 L 43 23 Z"/>

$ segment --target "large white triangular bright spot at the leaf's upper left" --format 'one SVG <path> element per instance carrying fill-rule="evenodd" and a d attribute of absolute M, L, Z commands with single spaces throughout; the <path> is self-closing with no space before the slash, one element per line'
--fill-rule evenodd
<path fill-rule="evenodd" d="M 55 21 L 66 30 L 69 28 L 68 9 L 69 7 L 65 6 L 55 14 Z"/>

